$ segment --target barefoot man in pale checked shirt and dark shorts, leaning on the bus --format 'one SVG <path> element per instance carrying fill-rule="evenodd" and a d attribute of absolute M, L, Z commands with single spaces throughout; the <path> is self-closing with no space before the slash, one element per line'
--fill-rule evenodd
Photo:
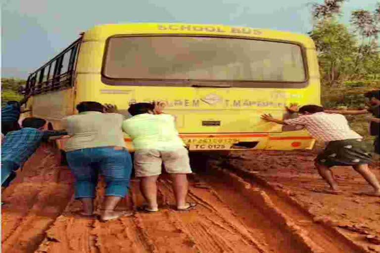
<path fill-rule="evenodd" d="M 371 153 L 366 150 L 363 137 L 351 130 L 343 115 L 328 114 L 317 105 L 305 105 L 299 109 L 300 116 L 295 119 L 277 120 L 272 115 L 264 114 L 261 119 L 282 125 L 301 125 L 316 139 L 328 142 L 322 154 L 315 160 L 319 174 L 330 185 L 326 193 L 339 193 L 331 167 L 352 166 L 374 188 L 371 196 L 380 196 L 380 183 L 368 168 L 372 162 Z"/>

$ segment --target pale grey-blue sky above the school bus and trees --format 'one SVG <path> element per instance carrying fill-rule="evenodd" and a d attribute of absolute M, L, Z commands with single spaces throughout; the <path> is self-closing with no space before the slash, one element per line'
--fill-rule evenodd
<path fill-rule="evenodd" d="M 323 0 L 1 0 L 1 77 L 28 74 L 95 25 L 130 22 L 223 24 L 306 34 L 310 3 Z M 349 0 L 341 21 L 377 0 Z"/>

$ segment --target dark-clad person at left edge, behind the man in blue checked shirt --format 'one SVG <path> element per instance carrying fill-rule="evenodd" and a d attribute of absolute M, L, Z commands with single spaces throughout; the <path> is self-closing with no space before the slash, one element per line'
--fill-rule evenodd
<path fill-rule="evenodd" d="M 21 106 L 25 104 L 31 95 L 25 96 L 20 102 L 8 101 L 6 106 L 1 108 L 1 132 L 6 135 L 10 131 L 20 129 L 18 120 L 21 113 L 26 113 L 31 110 L 21 110 Z"/>

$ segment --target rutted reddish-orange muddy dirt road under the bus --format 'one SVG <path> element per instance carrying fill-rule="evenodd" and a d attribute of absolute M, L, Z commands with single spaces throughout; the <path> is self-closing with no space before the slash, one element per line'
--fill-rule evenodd
<path fill-rule="evenodd" d="M 355 224 L 360 221 L 367 229 L 348 223 L 345 228 L 339 228 L 343 224 L 336 221 L 339 210 L 335 208 L 326 214 L 318 207 L 324 207 L 325 202 L 336 204 L 336 199 L 329 198 L 341 197 L 299 187 L 299 180 L 305 181 L 305 176 L 309 183 L 301 183 L 303 186 L 322 187 L 316 172 L 307 169 L 313 154 L 293 153 L 294 157 L 279 154 L 235 152 L 227 156 L 198 156 L 194 165 L 196 173 L 189 176 L 189 201 L 198 204 L 195 210 L 173 210 L 171 182 L 163 174 L 158 183 L 159 213 L 135 212 L 130 217 L 101 223 L 96 218 L 75 214 L 80 204 L 73 200 L 72 175 L 67 167 L 56 164 L 54 151 L 43 146 L 3 194 L 7 204 L 2 208 L 2 252 L 380 252 L 380 246 L 363 239 L 368 235 L 376 239 L 380 235 L 379 216 L 376 216 L 380 212 L 380 202 L 376 206 L 376 201 L 380 198 L 368 201 L 365 197 L 355 197 L 362 198 L 358 199 L 361 208 L 369 208 L 373 215 L 369 217 L 370 212 L 366 211 L 363 217 L 345 211 L 346 216 L 339 220 Z M 302 164 L 304 170 L 289 168 L 292 159 Z M 102 182 L 99 185 L 103 186 Z M 299 195 L 298 190 L 304 195 Z M 99 187 L 95 200 L 98 209 L 103 194 L 103 187 Z M 310 198 L 316 207 L 305 204 Z M 133 179 L 130 197 L 118 209 L 136 210 L 142 204 L 138 180 Z M 326 215 L 331 219 L 325 218 Z M 368 218 L 374 221 L 371 223 Z M 367 235 L 350 228 L 365 231 Z"/>

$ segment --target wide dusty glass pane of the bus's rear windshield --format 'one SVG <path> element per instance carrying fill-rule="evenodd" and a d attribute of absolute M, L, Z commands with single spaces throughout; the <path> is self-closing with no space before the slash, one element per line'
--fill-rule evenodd
<path fill-rule="evenodd" d="M 107 79 L 305 82 L 301 47 L 251 39 L 111 37 L 102 74 Z"/>

